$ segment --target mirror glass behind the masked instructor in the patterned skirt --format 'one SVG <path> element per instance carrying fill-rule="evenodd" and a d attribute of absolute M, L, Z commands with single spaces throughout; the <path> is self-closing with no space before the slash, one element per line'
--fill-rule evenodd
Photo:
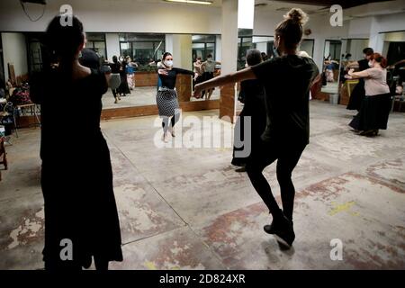
<path fill-rule="evenodd" d="M 112 38 L 117 36 L 108 33 L 109 46 Z M 193 34 L 145 34 L 145 33 L 119 33 L 119 49 L 108 53 L 106 63 L 112 63 L 112 57 L 117 56 L 126 70 L 126 83 L 120 89 L 119 100 L 113 97 L 111 89 L 103 97 L 103 109 L 148 106 L 156 104 L 157 66 L 162 54 L 169 51 L 173 54 L 174 66 L 201 73 L 198 81 L 220 73 L 220 36 L 219 35 L 193 35 Z M 206 62 L 214 63 L 205 65 Z M 199 64 L 202 69 L 199 69 Z M 123 69 L 122 67 L 122 69 Z M 202 99 L 191 97 L 193 85 L 192 76 L 180 76 L 177 79 L 177 94 L 180 102 L 195 102 L 206 100 L 219 100 L 219 89 L 213 89 Z M 125 76 L 121 76 L 125 80 Z M 126 88 L 128 85 L 128 88 Z"/>

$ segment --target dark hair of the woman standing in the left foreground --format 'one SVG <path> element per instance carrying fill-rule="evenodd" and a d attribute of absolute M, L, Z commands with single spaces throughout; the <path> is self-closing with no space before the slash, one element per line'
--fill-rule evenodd
<path fill-rule="evenodd" d="M 85 41 L 83 24 L 76 16 L 72 17 L 72 25 L 62 25 L 62 17 L 55 16 L 49 23 L 45 34 L 45 45 L 53 58 L 58 58 L 59 66 L 69 70 L 75 60 L 77 49 Z"/>

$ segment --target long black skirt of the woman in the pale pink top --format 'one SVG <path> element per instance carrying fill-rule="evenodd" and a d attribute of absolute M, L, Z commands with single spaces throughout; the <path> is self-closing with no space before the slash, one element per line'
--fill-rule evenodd
<path fill-rule="evenodd" d="M 349 123 L 356 130 L 385 130 L 392 106 L 391 94 L 365 96 L 360 111 Z"/>

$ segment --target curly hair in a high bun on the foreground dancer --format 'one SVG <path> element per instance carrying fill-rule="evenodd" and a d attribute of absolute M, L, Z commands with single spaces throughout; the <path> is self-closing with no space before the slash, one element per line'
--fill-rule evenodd
<path fill-rule="evenodd" d="M 302 40 L 302 26 L 308 21 L 308 16 L 300 8 L 293 8 L 284 15 L 284 21 L 275 27 L 275 35 L 284 38 L 288 49 L 295 49 Z"/>

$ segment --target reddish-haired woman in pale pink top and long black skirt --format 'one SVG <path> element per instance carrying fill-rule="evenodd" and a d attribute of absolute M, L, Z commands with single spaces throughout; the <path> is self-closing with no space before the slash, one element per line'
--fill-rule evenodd
<path fill-rule="evenodd" d="M 360 111 L 349 123 L 360 135 L 376 136 L 378 130 L 387 129 L 388 115 L 391 110 L 391 92 L 387 85 L 387 59 L 380 53 L 371 55 L 368 69 L 354 72 L 350 69 L 348 79 L 365 79 L 365 98 Z"/>

